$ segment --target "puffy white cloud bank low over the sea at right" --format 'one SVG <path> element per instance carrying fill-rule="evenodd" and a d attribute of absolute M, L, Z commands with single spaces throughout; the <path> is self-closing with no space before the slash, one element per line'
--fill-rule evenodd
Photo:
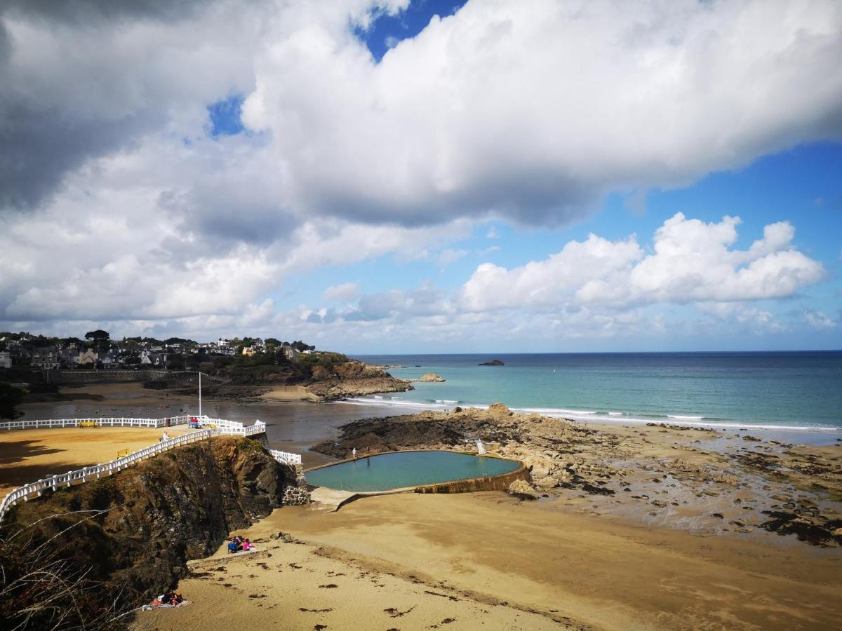
<path fill-rule="evenodd" d="M 737 240 L 738 224 L 733 217 L 706 224 L 678 213 L 655 232 L 648 255 L 635 236 L 607 241 L 590 235 L 520 268 L 483 263 L 463 285 L 459 301 L 467 310 L 489 310 L 762 300 L 790 296 L 823 278 L 822 264 L 791 246 L 790 224 L 767 225 L 764 238 L 746 251 L 728 248 Z"/>

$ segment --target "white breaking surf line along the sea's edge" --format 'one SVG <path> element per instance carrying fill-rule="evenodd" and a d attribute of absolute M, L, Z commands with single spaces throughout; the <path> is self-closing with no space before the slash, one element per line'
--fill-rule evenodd
<path fill-rule="evenodd" d="M 444 411 L 454 403 L 461 401 L 450 400 L 435 400 L 435 402 L 413 401 L 413 400 L 397 400 L 397 397 L 391 399 L 375 399 L 372 397 L 354 397 L 337 401 L 337 403 L 346 403 L 356 406 L 383 406 L 383 407 L 397 407 L 397 408 L 413 408 L 416 410 L 438 410 Z M 462 406 L 477 407 L 482 410 L 488 410 L 487 404 L 465 403 L 461 402 Z M 610 424 L 629 423 L 629 424 L 646 424 L 652 422 L 665 422 L 669 418 L 671 425 L 682 425 L 688 427 L 713 427 L 721 429 L 744 429 L 744 430 L 770 430 L 781 432 L 831 432 L 839 433 L 842 429 L 839 427 L 826 427 L 815 425 L 775 425 L 771 423 L 758 422 L 737 422 L 732 419 L 714 419 L 705 416 L 680 416 L 680 415 L 663 415 L 663 414 L 634 414 L 632 412 L 598 412 L 590 410 L 569 410 L 566 408 L 556 407 L 511 407 L 513 411 L 525 412 L 531 414 L 536 412 L 543 416 L 554 416 L 557 418 L 568 418 L 573 421 L 581 422 L 605 422 Z M 618 418 L 620 416 L 621 418 Z"/>

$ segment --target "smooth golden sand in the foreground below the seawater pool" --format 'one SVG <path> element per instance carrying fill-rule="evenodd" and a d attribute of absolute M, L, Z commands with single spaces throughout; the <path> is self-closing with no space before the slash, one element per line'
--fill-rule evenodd
<path fill-rule="evenodd" d="M 304 544 L 270 540 L 278 531 Z M 838 549 L 699 537 L 503 493 L 290 507 L 242 534 L 272 556 L 182 581 L 194 604 L 142 612 L 136 628 L 842 625 Z"/>

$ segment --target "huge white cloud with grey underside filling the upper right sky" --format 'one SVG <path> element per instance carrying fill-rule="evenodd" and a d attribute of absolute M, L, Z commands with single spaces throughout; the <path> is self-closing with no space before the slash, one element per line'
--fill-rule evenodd
<path fill-rule="evenodd" d="M 322 213 L 563 221 L 839 137 L 840 30 L 838 3 L 469 2 L 375 64 L 310 25 L 258 60 L 244 119 Z"/>

